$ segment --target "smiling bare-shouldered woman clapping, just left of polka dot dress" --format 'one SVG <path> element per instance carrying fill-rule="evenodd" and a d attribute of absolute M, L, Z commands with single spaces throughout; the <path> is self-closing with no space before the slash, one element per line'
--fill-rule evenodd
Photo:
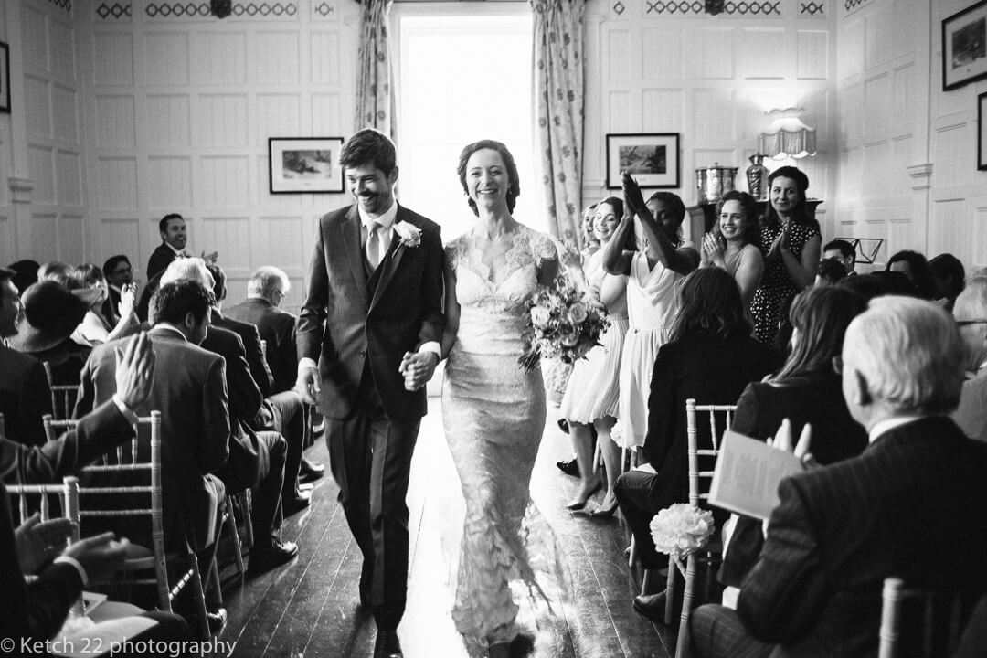
<path fill-rule="evenodd" d="M 703 236 L 700 267 L 720 267 L 740 288 L 743 308 L 749 309 L 761 283 L 764 258 L 757 249 L 757 205 L 747 192 L 731 189 L 717 202 L 717 222 Z"/>

